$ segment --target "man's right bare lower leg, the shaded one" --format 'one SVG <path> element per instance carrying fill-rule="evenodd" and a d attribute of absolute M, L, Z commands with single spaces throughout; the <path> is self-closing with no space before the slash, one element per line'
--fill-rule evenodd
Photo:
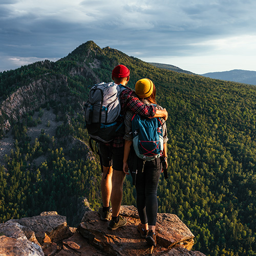
<path fill-rule="evenodd" d="M 123 180 L 125 173 L 119 170 L 113 170 L 112 176 L 112 193 L 111 193 L 111 204 L 112 204 L 112 216 L 117 217 L 122 202 L 123 196 Z"/>

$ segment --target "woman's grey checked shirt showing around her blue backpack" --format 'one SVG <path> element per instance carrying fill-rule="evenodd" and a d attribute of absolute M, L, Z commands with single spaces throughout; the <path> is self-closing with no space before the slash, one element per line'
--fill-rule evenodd
<path fill-rule="evenodd" d="M 145 105 L 150 105 L 151 104 L 146 99 L 143 99 L 143 103 Z M 163 110 L 163 108 L 159 105 L 156 106 L 156 109 Z M 125 118 L 124 118 L 125 135 L 123 137 L 125 140 L 133 141 L 133 133 L 132 133 L 132 118 L 133 118 L 133 116 L 134 116 L 133 112 L 131 112 L 131 111 L 126 112 L 126 115 L 125 115 Z M 160 119 L 161 119 L 162 129 L 163 129 L 163 143 L 165 144 L 168 141 L 166 123 L 165 123 L 163 118 L 160 118 Z"/>

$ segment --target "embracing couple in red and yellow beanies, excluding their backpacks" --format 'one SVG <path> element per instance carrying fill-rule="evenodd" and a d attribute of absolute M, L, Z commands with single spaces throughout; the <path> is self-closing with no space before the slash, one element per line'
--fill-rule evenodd
<path fill-rule="evenodd" d="M 126 86 L 130 79 L 130 70 L 123 65 L 118 65 L 112 71 L 112 79 L 116 84 Z M 123 180 L 125 175 L 129 174 L 127 160 L 133 140 L 131 134 L 131 119 L 133 113 L 150 118 L 162 117 L 163 121 L 166 120 L 168 116 L 165 109 L 156 105 L 156 88 L 150 79 L 140 79 L 136 83 L 136 94 L 131 89 L 127 87 L 126 89 L 127 90 L 122 91 L 120 95 L 121 116 L 125 118 L 125 135 L 115 137 L 111 145 L 99 143 L 99 154 L 102 158 L 103 165 L 103 175 L 101 178 L 103 207 L 99 208 L 98 213 L 101 220 L 108 221 L 110 219 L 111 200 L 112 219 L 108 226 L 111 230 L 126 225 L 126 219 L 119 216 L 119 210 L 122 201 Z M 167 135 L 165 123 L 163 124 L 163 135 L 163 156 L 167 165 Z M 141 161 L 138 161 L 138 164 L 139 163 L 141 163 Z M 148 244 L 156 246 L 155 226 L 158 211 L 157 186 L 162 167 L 159 158 L 146 162 L 143 166 L 143 170 L 142 168 L 138 168 L 136 177 L 137 209 L 141 220 L 137 229 L 141 237 L 146 238 Z"/>

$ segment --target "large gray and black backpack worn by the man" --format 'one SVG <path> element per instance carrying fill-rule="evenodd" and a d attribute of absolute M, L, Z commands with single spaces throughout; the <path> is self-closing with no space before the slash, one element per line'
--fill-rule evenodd
<path fill-rule="evenodd" d="M 121 111 L 119 96 L 123 90 L 126 89 L 114 82 L 101 82 L 90 90 L 84 111 L 91 139 L 108 143 L 116 136 L 122 125 L 117 123 L 117 118 Z"/>

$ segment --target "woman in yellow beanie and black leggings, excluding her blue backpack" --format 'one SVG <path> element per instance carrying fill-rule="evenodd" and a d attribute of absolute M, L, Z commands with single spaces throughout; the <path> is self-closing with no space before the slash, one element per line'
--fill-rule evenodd
<path fill-rule="evenodd" d="M 135 91 L 140 100 L 144 104 L 156 104 L 156 108 L 162 110 L 163 108 L 156 103 L 156 87 L 154 83 L 147 78 L 140 79 L 137 81 L 135 86 Z M 131 152 L 131 145 L 133 141 L 132 131 L 132 112 L 126 112 L 125 115 L 125 144 L 124 144 L 124 158 L 123 158 L 123 172 L 129 174 L 128 170 L 128 158 Z M 162 131 L 163 131 L 163 157 L 167 167 L 167 146 L 166 142 L 167 132 L 166 124 L 162 119 Z M 130 155 L 131 162 L 136 163 L 136 169 L 138 173 L 136 175 L 136 192 L 137 192 L 137 209 L 140 217 L 141 223 L 138 225 L 137 229 L 140 232 L 142 238 L 146 239 L 149 245 L 156 246 L 156 220 L 158 211 L 158 201 L 157 201 L 157 186 L 159 177 L 161 174 L 162 166 L 160 158 L 156 158 L 152 161 L 144 161 L 137 157 L 136 154 Z M 135 159 L 137 158 L 137 159 Z M 135 161 L 136 160 L 136 161 Z M 131 164 L 129 162 L 129 167 L 131 169 Z"/>

